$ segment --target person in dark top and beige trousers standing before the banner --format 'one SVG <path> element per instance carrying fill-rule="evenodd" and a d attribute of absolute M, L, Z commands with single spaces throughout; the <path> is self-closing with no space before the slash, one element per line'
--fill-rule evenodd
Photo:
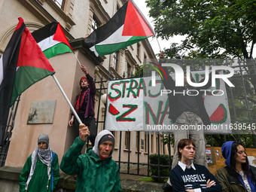
<path fill-rule="evenodd" d="M 160 65 L 166 62 L 164 59 L 163 52 L 160 52 Z M 187 125 L 203 125 L 207 126 L 211 124 L 209 115 L 206 112 L 205 105 L 203 103 L 203 92 L 199 90 L 207 90 L 212 85 L 212 73 L 209 75 L 209 81 L 203 87 L 191 87 L 187 83 L 187 75 L 184 75 L 184 87 L 175 87 L 175 81 L 169 75 L 168 69 L 163 67 L 166 72 L 167 79 L 163 79 L 163 84 L 166 90 L 175 90 L 177 94 L 169 93 L 169 119 L 178 126 L 178 130 L 174 130 L 173 136 L 175 140 L 174 144 L 174 154 L 172 160 L 172 168 L 174 168 L 178 163 L 178 149 L 177 145 L 180 139 L 192 139 L 197 146 L 197 153 L 194 157 L 194 163 L 206 166 L 208 168 L 206 160 L 206 142 L 203 134 L 203 129 L 201 130 L 181 130 L 181 126 Z M 218 73 L 218 72 L 217 72 Z M 190 80 L 194 81 L 190 73 Z M 202 79 L 200 82 L 203 82 Z M 198 90 L 199 93 L 196 95 L 190 93 L 189 90 Z M 189 93 L 187 93 L 187 91 Z M 185 94 L 182 94 L 182 93 Z M 178 94 L 179 93 L 179 94 Z"/>

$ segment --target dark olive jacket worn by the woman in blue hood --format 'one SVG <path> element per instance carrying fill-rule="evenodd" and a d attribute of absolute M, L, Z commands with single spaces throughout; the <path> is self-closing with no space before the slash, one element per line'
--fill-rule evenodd
<path fill-rule="evenodd" d="M 256 168 L 254 166 L 250 168 L 251 176 L 255 181 Z M 215 173 L 215 178 L 222 186 L 222 192 L 247 192 L 241 181 L 227 172 L 228 169 L 230 169 L 228 166 L 224 166 Z"/>

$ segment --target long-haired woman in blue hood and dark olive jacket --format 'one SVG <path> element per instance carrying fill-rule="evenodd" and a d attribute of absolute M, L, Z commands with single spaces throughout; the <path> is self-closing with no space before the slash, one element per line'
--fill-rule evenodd
<path fill-rule="evenodd" d="M 222 186 L 222 191 L 255 192 L 256 168 L 250 166 L 245 148 L 239 142 L 225 142 L 221 147 L 226 159 L 224 166 L 217 170 L 215 177 Z"/>

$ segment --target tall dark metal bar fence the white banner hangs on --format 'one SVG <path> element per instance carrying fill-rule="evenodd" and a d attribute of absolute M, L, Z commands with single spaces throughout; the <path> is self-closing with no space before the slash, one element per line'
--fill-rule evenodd
<path fill-rule="evenodd" d="M 178 60 L 179 63 L 184 62 L 186 64 L 186 61 L 184 60 Z M 198 65 L 196 65 L 198 62 L 201 62 L 200 68 Z M 248 60 L 247 62 L 245 61 L 240 61 L 239 59 L 237 60 L 227 60 L 227 59 L 196 59 L 194 62 L 190 61 L 190 67 L 191 71 L 194 70 L 204 70 L 205 66 L 211 65 L 212 66 L 218 66 L 218 65 L 225 65 L 225 66 L 230 66 L 234 69 L 235 74 L 233 77 L 229 78 L 229 80 L 235 85 L 235 87 L 228 87 L 226 85 L 226 90 L 227 90 L 227 97 L 228 97 L 228 102 L 229 102 L 229 108 L 230 108 L 230 117 L 231 117 L 231 123 L 233 124 L 242 124 L 245 123 L 246 126 L 255 126 L 256 125 L 256 67 L 255 67 L 255 62 L 254 59 Z M 183 64 L 184 66 L 184 64 Z M 146 74 L 146 75 L 145 75 Z M 144 72 L 144 76 L 149 76 L 151 75 L 151 72 Z M 123 78 L 124 77 L 123 73 Z M 127 75 L 129 76 L 129 75 Z M 142 76 L 142 74 L 139 74 L 138 76 Z M 133 78 L 133 75 L 131 75 L 131 78 Z M 117 79 L 117 75 L 116 75 Z M 108 79 L 109 80 L 109 79 Z M 108 81 L 103 81 L 103 77 L 101 80 L 96 80 L 96 84 L 99 84 L 100 88 L 98 89 L 99 95 L 102 94 L 102 90 L 106 90 L 107 88 L 102 88 L 102 84 L 106 84 Z M 100 99 L 99 99 L 100 102 Z M 98 106 L 99 107 L 99 106 Z M 106 111 L 106 110 L 105 110 Z M 98 108 L 98 119 L 99 119 L 99 108 Z M 104 123 L 104 121 L 99 121 L 98 123 Z M 255 142 L 255 136 L 254 136 L 254 129 L 250 130 L 251 134 L 239 134 L 238 130 L 234 130 L 233 133 L 231 134 L 218 134 L 218 135 L 206 135 L 206 140 L 207 143 L 210 144 L 212 147 L 221 147 L 221 145 L 224 142 L 227 141 L 233 141 L 236 140 L 238 142 L 242 142 L 243 145 L 245 145 L 245 148 L 256 148 L 256 142 Z M 158 134 L 158 138 L 160 138 L 160 133 Z M 138 134 L 139 136 L 139 134 Z M 137 154 L 137 161 L 132 162 L 130 161 L 130 153 L 128 153 L 128 159 L 126 161 L 122 161 L 120 154 L 121 154 L 121 148 L 123 145 L 122 141 L 122 132 L 120 132 L 120 138 L 119 138 L 119 156 L 117 163 L 120 166 L 121 163 L 126 164 L 126 170 L 122 171 L 121 173 L 124 174 L 130 174 L 130 175 L 142 175 L 142 176 L 151 176 L 153 178 L 166 178 L 164 176 L 161 176 L 161 169 L 168 168 L 169 170 L 171 169 L 172 165 L 172 157 L 169 155 L 169 165 L 161 165 L 160 164 L 160 142 L 164 142 L 164 145 L 168 145 L 168 154 L 171 154 L 171 146 L 172 146 L 172 139 L 173 136 L 172 134 L 162 134 L 163 138 L 166 138 L 165 141 L 160 141 L 158 139 L 158 162 L 157 164 L 150 163 L 150 137 L 148 134 L 148 162 L 146 163 L 141 163 L 140 162 L 140 154 Z M 130 140 L 130 132 L 129 132 L 129 144 L 128 144 L 128 151 L 130 151 L 130 142 L 134 142 Z M 139 148 L 139 139 L 137 140 L 138 148 Z M 248 143 L 249 142 L 249 143 Z M 164 146 L 163 145 L 163 146 Z M 164 148 L 163 148 L 164 151 Z M 136 165 L 136 172 L 130 172 L 130 165 Z M 146 166 L 147 170 L 145 172 L 141 172 L 141 167 Z M 151 168 L 152 166 L 157 166 L 157 172 L 158 175 L 151 175 Z M 155 169 L 155 167 L 154 167 Z"/>

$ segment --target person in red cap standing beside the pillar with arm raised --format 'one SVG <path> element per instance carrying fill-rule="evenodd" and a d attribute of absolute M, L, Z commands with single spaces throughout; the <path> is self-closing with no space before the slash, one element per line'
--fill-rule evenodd
<path fill-rule="evenodd" d="M 94 146 L 95 138 L 97 135 L 96 123 L 95 123 L 95 112 L 94 112 L 94 100 L 96 94 L 96 86 L 93 78 L 87 72 L 85 66 L 81 66 L 81 70 L 84 72 L 86 77 L 82 77 L 79 81 L 81 92 L 75 99 L 75 111 L 80 117 L 81 121 L 89 127 L 90 130 L 90 142 Z M 69 120 L 69 126 L 74 125 L 75 137 L 79 136 L 79 123 L 72 113 L 71 120 Z"/>

